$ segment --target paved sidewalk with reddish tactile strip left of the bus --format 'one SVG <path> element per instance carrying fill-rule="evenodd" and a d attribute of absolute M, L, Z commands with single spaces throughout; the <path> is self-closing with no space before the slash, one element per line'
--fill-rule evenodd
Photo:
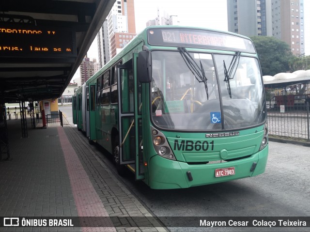
<path fill-rule="evenodd" d="M 0 162 L 0 217 L 79 217 L 80 224 L 0 231 L 167 231 L 76 127 L 28 127 L 28 138 L 22 139 L 20 120 L 7 124 L 11 160 Z"/>

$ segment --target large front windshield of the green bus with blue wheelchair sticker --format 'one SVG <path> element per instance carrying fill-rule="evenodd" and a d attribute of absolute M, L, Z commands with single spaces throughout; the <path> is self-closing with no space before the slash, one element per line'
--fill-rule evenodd
<path fill-rule="evenodd" d="M 211 131 L 256 126 L 266 118 L 264 100 L 255 58 L 240 52 L 152 51 L 151 118 L 159 128 Z"/>

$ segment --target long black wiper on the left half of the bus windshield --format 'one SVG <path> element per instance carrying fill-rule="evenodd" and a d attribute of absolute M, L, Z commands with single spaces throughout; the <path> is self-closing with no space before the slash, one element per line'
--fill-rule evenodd
<path fill-rule="evenodd" d="M 188 69 L 194 74 L 195 78 L 198 80 L 199 83 L 201 82 L 204 83 L 205 92 L 207 94 L 207 99 L 209 100 L 208 85 L 207 85 L 208 79 L 205 76 L 202 62 L 200 61 L 200 67 L 199 67 L 199 65 L 191 57 L 191 55 L 188 53 L 185 47 L 178 47 L 178 49 Z"/>

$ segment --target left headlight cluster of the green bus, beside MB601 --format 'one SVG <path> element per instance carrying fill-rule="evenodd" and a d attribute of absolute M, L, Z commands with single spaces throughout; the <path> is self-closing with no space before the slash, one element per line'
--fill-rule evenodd
<path fill-rule="evenodd" d="M 163 133 L 151 126 L 153 146 L 156 153 L 166 159 L 176 160 L 173 155 L 166 137 Z"/>

